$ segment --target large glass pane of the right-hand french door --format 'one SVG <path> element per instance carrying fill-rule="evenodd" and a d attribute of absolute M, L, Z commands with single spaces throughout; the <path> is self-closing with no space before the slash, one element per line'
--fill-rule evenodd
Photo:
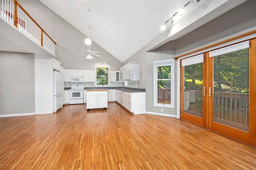
<path fill-rule="evenodd" d="M 214 57 L 213 121 L 248 131 L 249 49 Z"/>

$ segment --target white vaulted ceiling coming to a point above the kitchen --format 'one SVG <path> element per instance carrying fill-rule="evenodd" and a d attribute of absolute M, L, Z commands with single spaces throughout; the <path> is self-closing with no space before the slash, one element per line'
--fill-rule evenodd
<path fill-rule="evenodd" d="M 190 0 L 39 1 L 86 36 L 88 36 L 88 25 L 90 25 L 92 27 L 90 29 L 92 41 L 119 61 L 124 62 L 158 37 L 162 33 L 160 25 L 165 23 L 170 16 L 178 12 Z M 190 4 L 193 4 L 196 8 L 203 1 L 212 0 L 200 0 L 198 3 L 191 3 L 190 1 Z M 90 12 L 88 12 L 88 8 Z M 194 9 L 186 7 L 185 10 Z M 200 11 L 197 12 L 200 13 Z M 188 12 L 184 13 L 184 15 L 186 14 Z"/>

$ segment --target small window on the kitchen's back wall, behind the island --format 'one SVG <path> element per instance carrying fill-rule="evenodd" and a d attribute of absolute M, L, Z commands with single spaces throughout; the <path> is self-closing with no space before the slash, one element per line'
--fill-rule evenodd
<path fill-rule="evenodd" d="M 95 66 L 96 86 L 108 86 L 109 82 L 109 66 Z"/>

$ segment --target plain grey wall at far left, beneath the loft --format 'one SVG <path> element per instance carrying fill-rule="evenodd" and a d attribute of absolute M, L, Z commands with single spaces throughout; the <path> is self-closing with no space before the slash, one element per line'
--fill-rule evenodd
<path fill-rule="evenodd" d="M 0 115 L 35 112 L 34 54 L 0 51 Z"/>

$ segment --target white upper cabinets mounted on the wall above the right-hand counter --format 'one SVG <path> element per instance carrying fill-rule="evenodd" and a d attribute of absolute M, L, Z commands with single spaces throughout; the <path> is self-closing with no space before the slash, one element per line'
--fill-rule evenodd
<path fill-rule="evenodd" d="M 120 80 L 140 81 L 140 64 L 130 62 L 120 68 Z"/>

